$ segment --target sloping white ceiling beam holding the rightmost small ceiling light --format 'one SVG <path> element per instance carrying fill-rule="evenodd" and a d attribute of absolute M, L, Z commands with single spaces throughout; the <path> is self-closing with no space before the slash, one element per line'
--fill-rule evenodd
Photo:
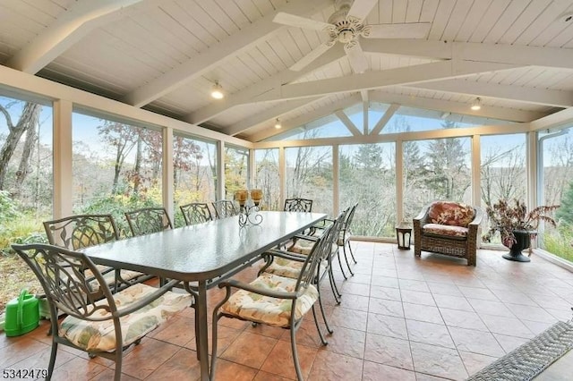
<path fill-rule="evenodd" d="M 370 99 L 372 102 L 398 104 L 408 107 L 423 108 L 426 110 L 441 111 L 444 113 L 466 114 L 519 123 L 528 123 L 547 115 L 546 113 L 539 113 L 536 111 L 517 110 L 515 108 L 495 106 L 482 106 L 481 110 L 472 111 L 470 109 L 470 105 L 467 103 L 427 97 L 410 97 L 382 90 L 372 91 Z"/>

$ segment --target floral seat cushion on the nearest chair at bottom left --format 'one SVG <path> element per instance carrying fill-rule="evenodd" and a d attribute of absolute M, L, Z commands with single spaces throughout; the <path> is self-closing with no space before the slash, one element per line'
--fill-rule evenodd
<path fill-rule="evenodd" d="M 146 284 L 134 284 L 114 294 L 115 305 L 117 309 L 124 309 L 156 291 L 155 287 Z M 165 322 L 167 318 L 189 307 L 191 298 L 191 295 L 187 293 L 167 292 L 147 306 L 120 318 L 124 345 L 137 341 Z M 96 304 L 106 305 L 107 300 L 98 301 Z M 94 313 L 95 317 L 111 317 L 111 314 L 104 309 L 99 309 Z M 103 321 L 88 321 L 68 316 L 60 325 L 59 334 L 86 351 L 115 351 L 115 328 L 111 318 Z"/>

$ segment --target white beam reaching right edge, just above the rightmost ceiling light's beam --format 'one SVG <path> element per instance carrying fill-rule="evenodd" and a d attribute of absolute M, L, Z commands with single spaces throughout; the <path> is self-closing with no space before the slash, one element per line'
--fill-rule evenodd
<path fill-rule="evenodd" d="M 407 85 L 416 89 L 431 89 L 469 95 L 472 97 L 495 97 L 543 106 L 573 106 L 573 91 L 526 88 L 475 80 L 437 80 Z"/>

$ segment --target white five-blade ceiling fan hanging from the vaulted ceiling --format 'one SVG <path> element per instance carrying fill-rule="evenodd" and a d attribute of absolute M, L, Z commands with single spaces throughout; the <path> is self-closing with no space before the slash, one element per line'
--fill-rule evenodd
<path fill-rule="evenodd" d="M 329 17 L 329 22 L 316 21 L 295 14 L 279 12 L 274 22 L 289 27 L 310 30 L 325 30 L 329 41 L 305 55 L 299 62 L 290 67 L 298 72 L 324 54 L 338 42 L 344 44 L 344 50 L 350 61 L 352 70 L 364 72 L 368 68 L 366 55 L 360 47 L 358 36 L 363 38 L 425 38 L 430 30 L 429 22 L 407 22 L 397 24 L 363 24 L 363 20 L 378 0 L 336 0 L 337 11 Z"/>

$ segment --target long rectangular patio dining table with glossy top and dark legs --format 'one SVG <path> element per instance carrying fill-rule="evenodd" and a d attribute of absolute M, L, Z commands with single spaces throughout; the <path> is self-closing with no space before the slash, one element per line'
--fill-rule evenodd
<path fill-rule="evenodd" d="M 94 263 L 181 280 L 192 289 L 201 380 L 208 380 L 207 290 L 326 217 L 301 212 L 260 214 L 262 222 L 258 225 L 241 227 L 239 216 L 232 216 L 92 246 L 83 252 Z"/>

